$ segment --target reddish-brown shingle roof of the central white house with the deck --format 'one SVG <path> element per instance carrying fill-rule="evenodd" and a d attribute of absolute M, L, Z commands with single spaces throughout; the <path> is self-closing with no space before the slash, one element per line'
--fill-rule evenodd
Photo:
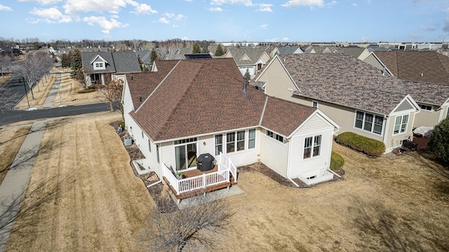
<path fill-rule="evenodd" d="M 156 62 L 156 66 L 166 76 L 128 77 L 133 101 L 149 89 L 144 91 L 143 105 L 130 116 L 153 141 L 260 125 L 267 96 L 250 86 L 243 93 L 243 78 L 232 58 Z M 262 126 L 288 136 L 315 110 L 269 97 Z"/>

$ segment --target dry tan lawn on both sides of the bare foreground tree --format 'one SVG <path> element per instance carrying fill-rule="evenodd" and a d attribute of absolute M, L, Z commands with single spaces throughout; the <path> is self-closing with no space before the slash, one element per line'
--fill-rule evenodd
<path fill-rule="evenodd" d="M 154 201 L 108 124 L 48 126 L 8 251 L 128 251 Z M 246 193 L 216 251 L 447 251 L 449 175 L 417 153 L 367 158 L 334 145 L 344 181 L 286 188 L 242 172 Z"/>

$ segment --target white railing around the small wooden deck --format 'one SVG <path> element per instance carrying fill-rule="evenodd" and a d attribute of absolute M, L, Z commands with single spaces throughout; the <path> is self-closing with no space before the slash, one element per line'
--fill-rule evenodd
<path fill-rule="evenodd" d="M 220 160 L 217 160 L 217 165 L 217 172 L 202 174 L 192 178 L 177 179 L 175 174 L 171 172 L 171 169 L 166 164 L 163 164 L 162 176 L 170 183 L 170 186 L 173 187 L 177 195 L 207 188 L 208 186 L 216 186 L 220 183 L 229 183 L 231 179 L 230 174 L 234 176 L 234 182 L 237 182 L 237 168 L 223 153 L 220 153 Z"/>

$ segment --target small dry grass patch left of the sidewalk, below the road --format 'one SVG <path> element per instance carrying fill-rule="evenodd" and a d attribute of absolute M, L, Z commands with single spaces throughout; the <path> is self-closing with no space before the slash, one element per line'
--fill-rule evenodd
<path fill-rule="evenodd" d="M 22 125 L 0 130 L 0 183 L 6 176 L 8 168 L 29 132 L 29 128 L 29 125 Z"/>

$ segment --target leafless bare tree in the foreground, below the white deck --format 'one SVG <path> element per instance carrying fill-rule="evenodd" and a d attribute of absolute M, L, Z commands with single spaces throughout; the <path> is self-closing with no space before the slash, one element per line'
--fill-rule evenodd
<path fill-rule="evenodd" d="M 210 193 L 182 203 L 184 208 L 172 214 L 152 209 L 140 237 L 142 246 L 153 251 L 209 251 L 222 239 L 229 218 L 235 213 L 229 202 Z"/>

